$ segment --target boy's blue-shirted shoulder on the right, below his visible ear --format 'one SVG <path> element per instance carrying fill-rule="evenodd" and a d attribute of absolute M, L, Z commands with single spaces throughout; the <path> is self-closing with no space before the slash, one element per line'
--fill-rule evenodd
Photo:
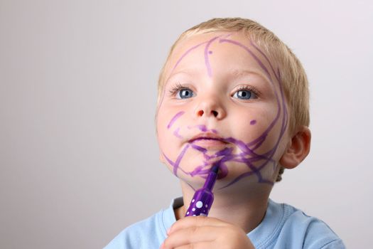
<path fill-rule="evenodd" d="M 271 200 L 263 221 L 249 238 L 255 241 L 256 248 L 345 248 L 325 222 Z"/>

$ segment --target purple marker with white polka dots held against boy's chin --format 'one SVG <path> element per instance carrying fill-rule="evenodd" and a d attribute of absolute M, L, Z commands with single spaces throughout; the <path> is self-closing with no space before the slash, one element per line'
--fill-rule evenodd
<path fill-rule="evenodd" d="M 213 166 L 210 173 L 207 176 L 205 185 L 202 189 L 195 191 L 192 201 L 190 202 L 188 211 L 185 213 L 186 216 L 207 216 L 214 201 L 214 194 L 212 194 L 212 188 L 215 185 L 217 179 L 217 171 L 219 167 Z"/>

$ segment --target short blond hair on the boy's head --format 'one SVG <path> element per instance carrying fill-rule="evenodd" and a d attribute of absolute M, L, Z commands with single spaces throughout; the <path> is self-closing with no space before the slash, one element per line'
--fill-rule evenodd
<path fill-rule="evenodd" d="M 288 104 L 288 131 L 295 132 L 298 127 L 308 126 L 310 122 L 308 104 L 308 80 L 305 70 L 296 55 L 274 33 L 259 23 L 247 18 L 212 18 L 200 23 L 182 33 L 171 47 L 166 63 L 161 69 L 158 80 L 158 103 L 166 83 L 166 65 L 180 41 L 201 33 L 209 32 L 242 32 L 253 41 L 256 46 L 264 50 L 270 61 L 279 65 L 279 81 L 282 83 L 286 102 Z M 283 167 L 279 171 L 276 181 L 281 181 Z"/>

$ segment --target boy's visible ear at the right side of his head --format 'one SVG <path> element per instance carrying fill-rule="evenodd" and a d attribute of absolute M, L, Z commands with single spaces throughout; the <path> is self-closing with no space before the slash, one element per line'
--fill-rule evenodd
<path fill-rule="evenodd" d="M 293 135 L 286 147 L 286 151 L 280 159 L 281 166 L 286 169 L 293 169 L 303 161 L 310 152 L 310 129 L 303 126 Z"/>

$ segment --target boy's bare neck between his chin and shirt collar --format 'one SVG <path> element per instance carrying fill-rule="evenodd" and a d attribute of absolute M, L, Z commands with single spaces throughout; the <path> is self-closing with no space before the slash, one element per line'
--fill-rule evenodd
<path fill-rule="evenodd" d="M 185 216 L 186 209 L 194 195 L 193 189 L 188 184 L 183 181 L 180 183 L 184 206 L 175 209 L 176 220 Z M 263 220 L 272 187 L 266 184 L 255 184 L 254 189 L 245 186 L 244 189 L 251 189 L 251 191 L 244 191 L 237 189 L 237 186 L 226 191 L 215 191 L 209 217 L 232 223 L 242 228 L 245 233 L 249 233 Z"/>

